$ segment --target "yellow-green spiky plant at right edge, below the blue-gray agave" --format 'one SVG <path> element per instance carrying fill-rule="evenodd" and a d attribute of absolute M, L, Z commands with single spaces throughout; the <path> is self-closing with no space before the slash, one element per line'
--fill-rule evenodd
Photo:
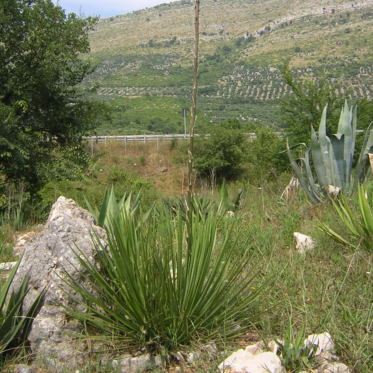
<path fill-rule="evenodd" d="M 351 244 L 360 243 L 368 251 L 373 250 L 373 195 L 368 198 L 368 193 L 363 185 L 358 185 L 358 212 L 350 208 L 346 196 L 342 195 L 338 201 L 332 201 L 335 210 L 347 228 L 348 239 L 342 237 L 323 222 L 319 222 L 317 228 L 329 235 L 334 241 L 350 246 Z M 351 238 L 355 241 L 352 242 Z"/>

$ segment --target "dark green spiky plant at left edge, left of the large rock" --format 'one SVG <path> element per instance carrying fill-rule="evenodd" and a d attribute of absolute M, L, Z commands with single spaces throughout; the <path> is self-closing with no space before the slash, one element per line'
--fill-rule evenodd
<path fill-rule="evenodd" d="M 28 276 L 25 276 L 18 289 L 13 289 L 9 295 L 13 279 L 23 257 L 19 257 L 17 263 L 9 273 L 0 292 L 0 359 L 6 355 L 13 355 L 24 347 L 27 336 L 35 317 L 37 307 L 43 292 L 32 303 L 26 313 L 22 313 L 22 303 L 28 293 Z M 9 295 L 9 296 L 8 296 Z M 0 362 L 1 362 L 0 361 Z"/>

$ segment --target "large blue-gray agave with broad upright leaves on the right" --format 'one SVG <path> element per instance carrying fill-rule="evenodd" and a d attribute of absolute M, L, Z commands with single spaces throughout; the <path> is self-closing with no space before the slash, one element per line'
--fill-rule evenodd
<path fill-rule="evenodd" d="M 355 150 L 357 107 L 355 105 L 354 109 L 352 107 L 349 109 L 346 100 L 339 117 L 338 131 L 331 138 L 326 136 L 326 109 L 327 105 L 320 120 L 319 136 L 317 136 L 313 127 L 311 128 L 311 147 L 309 149 L 304 143 L 289 148 L 286 141 L 286 151 L 295 176 L 297 176 L 308 198 L 315 204 L 327 196 L 332 186 L 348 192 L 355 184 L 355 180 L 352 178 L 352 160 Z M 359 183 L 365 182 L 370 173 L 367 153 L 373 154 L 373 135 L 370 129 L 372 123 L 366 131 L 354 173 L 355 179 Z M 305 157 L 295 160 L 291 150 L 299 146 L 305 147 Z M 313 179 L 309 162 L 310 153 L 312 154 L 318 184 Z M 305 175 L 303 175 L 299 165 L 302 166 Z"/>

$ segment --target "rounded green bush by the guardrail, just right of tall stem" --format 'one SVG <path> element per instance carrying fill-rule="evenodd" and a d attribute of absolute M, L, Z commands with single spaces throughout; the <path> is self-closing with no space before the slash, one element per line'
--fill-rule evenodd
<path fill-rule="evenodd" d="M 209 137 L 195 138 L 194 166 L 202 176 L 216 170 L 218 179 L 232 179 L 242 172 L 248 143 L 238 119 L 206 128 Z"/>

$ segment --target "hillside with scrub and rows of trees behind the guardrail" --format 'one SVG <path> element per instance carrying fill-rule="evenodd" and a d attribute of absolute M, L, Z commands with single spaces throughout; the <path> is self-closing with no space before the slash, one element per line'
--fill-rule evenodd
<path fill-rule="evenodd" d="M 183 132 L 192 90 L 194 1 L 102 19 L 90 35 L 98 65 L 88 84 L 115 106 L 113 134 Z M 325 70 L 373 98 L 373 0 L 203 0 L 200 6 L 199 125 L 238 117 L 278 127 L 289 94 L 279 66 L 296 76 Z M 109 133 L 102 126 L 100 134 Z"/>

